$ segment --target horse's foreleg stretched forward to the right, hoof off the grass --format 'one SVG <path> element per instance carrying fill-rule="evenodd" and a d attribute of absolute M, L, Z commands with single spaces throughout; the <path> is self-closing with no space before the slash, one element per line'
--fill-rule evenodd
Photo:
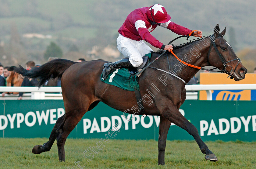
<path fill-rule="evenodd" d="M 210 161 L 218 161 L 217 157 L 209 150 L 207 145 L 203 142 L 199 136 L 197 128 L 191 124 L 174 105 L 169 105 L 170 112 L 163 112 L 163 116 L 169 119 L 171 122 L 177 126 L 186 130 L 191 136 L 194 137 L 202 153 L 206 154 L 205 159 Z"/>

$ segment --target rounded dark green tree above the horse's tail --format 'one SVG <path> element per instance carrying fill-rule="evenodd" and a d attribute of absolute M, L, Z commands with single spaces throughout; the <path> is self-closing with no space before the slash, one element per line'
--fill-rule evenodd
<path fill-rule="evenodd" d="M 44 59 L 48 60 L 49 57 L 62 57 L 61 48 L 54 42 L 51 42 L 51 44 L 47 47 L 46 51 L 44 52 Z"/>

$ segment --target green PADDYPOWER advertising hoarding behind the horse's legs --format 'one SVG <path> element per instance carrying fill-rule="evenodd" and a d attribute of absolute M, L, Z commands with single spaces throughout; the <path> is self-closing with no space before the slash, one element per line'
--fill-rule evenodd
<path fill-rule="evenodd" d="M 1 137 L 49 137 L 57 118 L 64 114 L 63 100 L 0 102 Z M 196 126 L 204 141 L 255 141 L 255 103 L 256 101 L 186 100 L 180 112 Z M 113 129 L 117 130 L 112 137 L 115 139 L 158 140 L 158 126 L 158 116 L 144 118 L 124 114 L 100 102 L 84 115 L 69 138 L 105 138 L 105 134 L 109 135 L 108 131 Z M 167 139 L 194 140 L 185 130 L 175 125 L 170 127 Z"/>

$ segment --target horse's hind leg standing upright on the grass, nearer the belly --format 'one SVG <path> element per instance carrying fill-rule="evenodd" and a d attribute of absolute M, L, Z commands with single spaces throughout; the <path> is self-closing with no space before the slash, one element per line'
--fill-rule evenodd
<path fill-rule="evenodd" d="M 82 119 L 86 109 L 73 109 L 66 112 L 66 117 L 56 130 L 56 139 L 58 146 L 59 161 L 65 161 L 65 149 L 64 145 L 69 133 L 75 128 L 78 122 Z"/>

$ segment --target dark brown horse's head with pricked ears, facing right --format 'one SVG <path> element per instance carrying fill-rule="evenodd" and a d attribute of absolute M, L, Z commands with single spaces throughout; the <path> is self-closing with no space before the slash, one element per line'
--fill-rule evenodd
<path fill-rule="evenodd" d="M 215 26 L 208 55 L 209 63 L 211 66 L 217 67 L 226 74 L 229 74 L 235 81 L 242 80 L 245 78 L 247 69 L 243 66 L 241 60 L 238 59 L 229 43 L 223 39 L 225 33 L 226 27 L 219 33 L 219 24 Z"/>

